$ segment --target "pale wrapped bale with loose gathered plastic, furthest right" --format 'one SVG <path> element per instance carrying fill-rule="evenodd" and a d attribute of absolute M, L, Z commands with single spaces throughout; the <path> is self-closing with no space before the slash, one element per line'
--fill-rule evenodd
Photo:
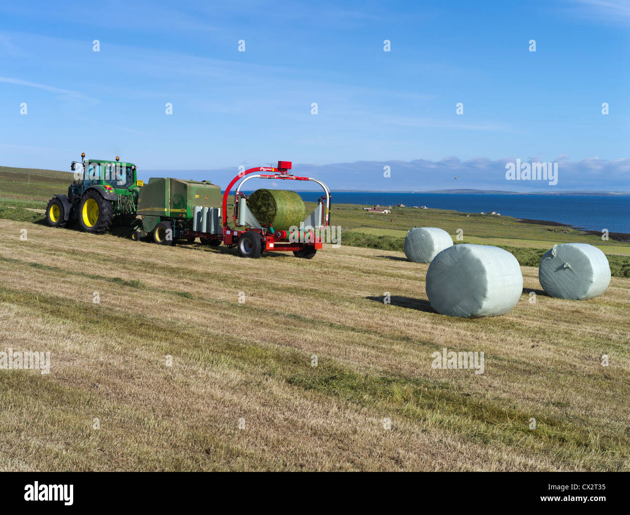
<path fill-rule="evenodd" d="M 610 284 L 604 252 L 587 243 L 554 245 L 542 256 L 538 280 L 551 297 L 586 300 L 602 295 Z"/>

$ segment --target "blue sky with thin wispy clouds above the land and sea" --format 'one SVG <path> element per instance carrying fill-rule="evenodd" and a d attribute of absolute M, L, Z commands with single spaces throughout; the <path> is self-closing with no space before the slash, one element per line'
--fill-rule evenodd
<path fill-rule="evenodd" d="M 286 159 L 331 188 L 549 188 L 505 181 L 518 158 L 566 165 L 554 190 L 629 191 L 630 3 L 478 5 L 3 3 L 0 164 L 83 151 L 221 184 Z"/>

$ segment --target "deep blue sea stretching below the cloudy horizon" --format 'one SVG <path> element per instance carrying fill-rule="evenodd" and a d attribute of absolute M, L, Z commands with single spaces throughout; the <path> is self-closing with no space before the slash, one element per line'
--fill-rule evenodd
<path fill-rule="evenodd" d="M 321 192 L 299 192 L 306 201 L 317 201 Z M 373 206 L 404 204 L 488 213 L 533 220 L 549 220 L 580 229 L 630 234 L 630 196 L 498 195 L 459 193 L 335 193 L 333 204 Z"/>

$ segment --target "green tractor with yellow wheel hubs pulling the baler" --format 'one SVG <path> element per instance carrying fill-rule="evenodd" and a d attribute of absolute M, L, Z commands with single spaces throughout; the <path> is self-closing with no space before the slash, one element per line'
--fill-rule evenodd
<path fill-rule="evenodd" d="M 137 166 L 129 162 L 85 159 L 72 161 L 75 180 L 68 195 L 55 195 L 46 207 L 50 227 L 64 227 L 79 220 L 86 232 L 103 234 L 112 225 L 131 225 L 136 217 L 138 191 Z"/>

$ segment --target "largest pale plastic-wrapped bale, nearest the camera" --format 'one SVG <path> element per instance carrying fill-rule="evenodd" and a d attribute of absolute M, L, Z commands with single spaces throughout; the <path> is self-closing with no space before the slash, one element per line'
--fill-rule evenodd
<path fill-rule="evenodd" d="M 435 256 L 427 270 L 429 302 L 450 317 L 503 315 L 522 292 L 517 259 L 499 247 L 454 245 Z"/>

